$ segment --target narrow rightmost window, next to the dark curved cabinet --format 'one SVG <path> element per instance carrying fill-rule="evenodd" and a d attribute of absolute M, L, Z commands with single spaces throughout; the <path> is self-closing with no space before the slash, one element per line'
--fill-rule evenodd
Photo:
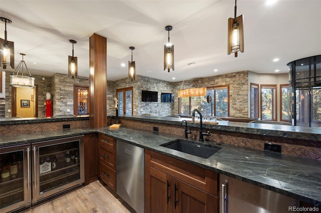
<path fill-rule="evenodd" d="M 280 119 L 289 121 L 291 118 L 290 99 L 291 88 L 289 84 L 280 84 Z"/>

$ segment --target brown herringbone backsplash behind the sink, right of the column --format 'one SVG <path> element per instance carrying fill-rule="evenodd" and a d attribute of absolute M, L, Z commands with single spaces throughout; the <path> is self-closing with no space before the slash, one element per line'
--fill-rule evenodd
<path fill-rule="evenodd" d="M 122 126 L 128 126 L 132 128 L 140 128 L 145 130 L 152 130 L 153 126 L 158 126 L 159 132 L 169 133 L 179 135 L 184 137 L 184 128 L 177 125 L 168 125 L 161 123 L 152 123 L 152 122 L 141 122 L 137 120 L 127 120 L 120 119 L 120 123 Z M 189 134 L 189 137 L 198 138 L 199 137 L 199 129 L 192 128 L 192 134 Z M 235 133 L 235 132 L 225 132 L 222 134 L 222 131 L 210 130 L 211 136 L 204 136 L 204 139 L 220 142 L 220 143 L 228 143 L 237 146 L 243 146 L 248 148 L 255 149 L 264 149 L 264 143 L 270 142 L 274 144 L 281 145 L 281 153 L 289 154 L 293 156 L 307 157 L 312 159 L 321 158 L 321 148 L 319 146 L 313 146 L 311 141 L 302 141 L 302 140 L 293 140 L 281 138 L 280 140 L 276 140 L 276 138 L 261 136 L 256 134 L 247 134 L 247 133 Z M 269 140 L 271 138 L 272 140 Z M 300 144 L 298 144 L 298 142 Z M 304 145 L 301 145 L 303 143 Z"/>

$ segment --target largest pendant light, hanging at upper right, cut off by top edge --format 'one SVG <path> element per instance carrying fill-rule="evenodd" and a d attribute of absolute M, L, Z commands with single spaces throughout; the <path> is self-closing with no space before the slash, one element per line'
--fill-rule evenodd
<path fill-rule="evenodd" d="M 234 7 L 234 18 L 228 19 L 228 37 L 227 37 L 227 54 L 234 52 L 237 57 L 237 52 L 244 51 L 243 38 L 243 15 L 236 17 L 236 0 Z"/>

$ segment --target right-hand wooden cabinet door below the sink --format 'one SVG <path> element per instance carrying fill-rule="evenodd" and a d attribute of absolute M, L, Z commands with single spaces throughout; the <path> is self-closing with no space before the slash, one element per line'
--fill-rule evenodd
<path fill-rule="evenodd" d="M 174 212 L 218 212 L 218 198 L 174 178 Z"/>

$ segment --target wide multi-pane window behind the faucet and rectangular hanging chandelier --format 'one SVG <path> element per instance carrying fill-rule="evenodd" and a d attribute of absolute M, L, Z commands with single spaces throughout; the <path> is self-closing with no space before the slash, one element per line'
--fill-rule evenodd
<path fill-rule="evenodd" d="M 212 96 L 212 101 L 207 102 L 207 95 Z M 229 86 L 208 87 L 205 96 L 180 97 L 179 113 L 192 114 L 193 109 L 198 110 L 204 116 L 229 116 Z"/>

